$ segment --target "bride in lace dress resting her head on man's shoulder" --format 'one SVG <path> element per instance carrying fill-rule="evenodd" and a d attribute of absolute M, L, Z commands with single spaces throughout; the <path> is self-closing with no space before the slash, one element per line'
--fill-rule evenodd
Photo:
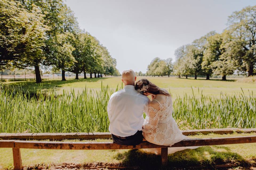
<path fill-rule="evenodd" d="M 151 96 L 149 112 L 142 126 L 143 137 L 146 141 L 157 145 L 172 146 L 174 143 L 188 139 L 179 130 L 172 117 L 173 103 L 167 90 L 161 89 L 147 79 L 141 79 L 135 84 L 135 90 L 145 96 Z M 184 149 L 197 147 L 172 147 L 168 154 Z M 161 148 L 146 149 L 155 154 L 161 154 Z"/>

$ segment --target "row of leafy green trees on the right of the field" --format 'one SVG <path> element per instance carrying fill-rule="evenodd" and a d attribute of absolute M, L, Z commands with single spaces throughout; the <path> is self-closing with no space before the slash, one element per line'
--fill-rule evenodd
<path fill-rule="evenodd" d="M 226 75 L 255 74 L 256 66 L 256 6 L 248 6 L 233 12 L 228 28 L 222 33 L 215 31 L 183 45 L 175 50 L 174 74 Z"/>

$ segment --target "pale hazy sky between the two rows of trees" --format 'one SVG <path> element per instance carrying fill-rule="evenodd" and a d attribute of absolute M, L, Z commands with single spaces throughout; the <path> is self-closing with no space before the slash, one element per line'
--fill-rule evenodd
<path fill-rule="evenodd" d="M 146 73 L 155 57 L 173 58 L 179 46 L 222 32 L 233 11 L 255 0 L 66 0 L 81 29 L 117 59 L 117 69 Z"/>

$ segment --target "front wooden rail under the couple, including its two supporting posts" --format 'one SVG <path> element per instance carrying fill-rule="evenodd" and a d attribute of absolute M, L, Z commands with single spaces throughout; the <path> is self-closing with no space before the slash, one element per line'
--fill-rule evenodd
<path fill-rule="evenodd" d="M 184 139 L 171 147 L 226 145 L 237 143 L 255 143 L 256 135 L 226 138 Z M 143 141 L 136 146 L 118 145 L 113 142 L 58 142 L 58 141 L 21 141 L 0 140 L 0 148 L 13 148 L 14 170 L 22 169 L 20 148 L 28 149 L 64 149 L 64 150 L 109 150 L 161 148 L 162 164 L 167 165 L 167 151 L 170 146 L 161 146 Z"/>

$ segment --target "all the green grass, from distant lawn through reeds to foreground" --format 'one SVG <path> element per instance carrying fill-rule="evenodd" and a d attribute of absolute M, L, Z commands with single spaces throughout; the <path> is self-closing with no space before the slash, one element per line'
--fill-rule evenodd
<path fill-rule="evenodd" d="M 174 118 L 182 129 L 246 127 L 255 128 L 256 85 L 237 79 L 185 79 L 176 77 L 148 78 L 173 95 Z M 6 82 L 10 93 L 0 89 L 1 132 L 88 132 L 107 131 L 106 105 L 111 93 L 122 88 L 121 77 L 93 79 Z M 108 86 L 102 88 L 103 86 Z M 12 88 L 15 91 L 12 91 Z M 22 88 L 22 89 L 21 89 Z M 86 90 L 88 88 L 88 90 Z M 192 88 L 192 89 L 191 89 Z M 241 90 L 242 88 L 242 90 Z M 52 89 L 57 90 L 55 95 Z M 91 90 L 90 90 L 91 89 Z M 22 90 L 25 93 L 17 93 Z M 43 91 L 29 98 L 26 91 Z M 25 94 L 25 95 L 24 95 Z M 192 95 L 194 94 L 194 96 Z M 202 95 L 203 94 L 203 95 Z M 222 94 L 222 95 L 221 95 Z M 227 95 L 223 95 L 227 94 Z M 6 100 L 7 99 L 7 100 Z M 207 114 L 206 114 L 207 113 Z M 227 137 L 254 134 L 196 135 L 192 138 Z M 23 165 L 61 163 L 113 163 L 144 169 L 157 166 L 160 157 L 141 150 L 33 150 L 21 149 Z M 184 166 L 236 163 L 256 164 L 256 144 L 205 146 L 171 154 L 169 165 Z M 0 169 L 12 168 L 12 152 L 0 148 Z"/>

